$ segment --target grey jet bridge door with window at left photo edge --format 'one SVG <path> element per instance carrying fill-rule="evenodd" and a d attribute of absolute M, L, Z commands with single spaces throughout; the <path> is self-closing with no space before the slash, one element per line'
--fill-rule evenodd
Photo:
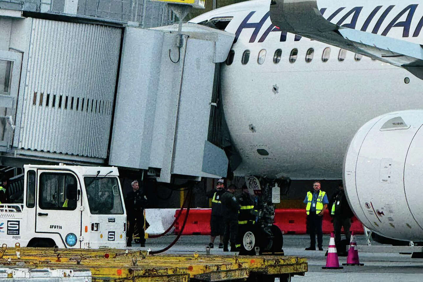
<path fill-rule="evenodd" d="M 13 141 L 21 64 L 22 53 L 0 51 L 0 152 Z"/>

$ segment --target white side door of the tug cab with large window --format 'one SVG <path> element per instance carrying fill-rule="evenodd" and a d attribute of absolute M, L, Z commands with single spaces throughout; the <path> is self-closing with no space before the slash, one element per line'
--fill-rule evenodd
<path fill-rule="evenodd" d="M 38 169 L 37 177 L 37 237 L 55 238 L 58 246 L 80 248 L 82 197 L 77 176 L 66 170 Z"/>

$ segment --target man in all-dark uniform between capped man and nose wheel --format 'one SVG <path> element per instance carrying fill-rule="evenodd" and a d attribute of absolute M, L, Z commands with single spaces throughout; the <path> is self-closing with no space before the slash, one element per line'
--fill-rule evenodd
<path fill-rule="evenodd" d="M 236 186 L 231 184 L 228 190 L 222 195 L 222 213 L 225 225 L 223 235 L 223 252 L 228 252 L 228 242 L 231 240 L 231 252 L 236 251 L 236 235 L 238 233 L 238 211 L 241 207 L 238 199 L 233 194 Z"/>

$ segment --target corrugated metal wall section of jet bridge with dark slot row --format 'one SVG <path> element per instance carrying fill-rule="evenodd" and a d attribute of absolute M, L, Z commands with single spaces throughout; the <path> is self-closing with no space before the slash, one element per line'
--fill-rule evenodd
<path fill-rule="evenodd" d="M 33 19 L 19 148 L 106 158 L 121 29 Z"/>

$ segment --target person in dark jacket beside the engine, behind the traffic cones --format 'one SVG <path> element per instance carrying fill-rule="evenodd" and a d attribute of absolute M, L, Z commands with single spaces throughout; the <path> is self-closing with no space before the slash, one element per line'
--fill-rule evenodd
<path fill-rule="evenodd" d="M 346 200 L 342 182 L 338 185 L 338 191 L 330 199 L 329 207 L 331 207 L 331 216 L 333 216 L 333 229 L 335 231 L 335 246 L 338 255 L 346 255 L 346 245 L 351 240 L 351 217 L 353 216 L 351 207 Z M 346 242 L 341 241 L 341 229 L 344 227 Z"/>

